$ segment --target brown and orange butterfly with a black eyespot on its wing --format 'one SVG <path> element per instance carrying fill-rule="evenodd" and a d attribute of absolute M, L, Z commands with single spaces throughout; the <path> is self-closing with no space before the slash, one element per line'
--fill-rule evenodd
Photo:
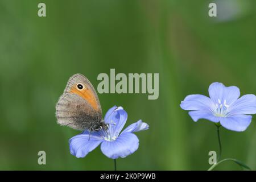
<path fill-rule="evenodd" d="M 90 132 L 106 130 L 97 93 L 90 81 L 81 74 L 69 78 L 64 93 L 56 104 L 57 123 L 76 130 Z"/>

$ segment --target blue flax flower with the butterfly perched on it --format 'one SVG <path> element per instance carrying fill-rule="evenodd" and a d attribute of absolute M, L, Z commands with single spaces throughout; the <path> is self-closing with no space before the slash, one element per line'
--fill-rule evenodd
<path fill-rule="evenodd" d="M 71 154 L 77 158 L 84 158 L 99 144 L 101 144 L 101 151 L 108 158 L 125 158 L 127 155 L 133 154 L 139 147 L 139 139 L 133 132 L 147 130 L 148 125 L 139 120 L 121 133 L 126 120 L 127 113 L 122 107 L 112 107 L 104 118 L 105 123 L 109 126 L 108 130 L 100 130 L 90 134 L 88 131 L 84 131 L 72 137 L 69 139 Z"/>

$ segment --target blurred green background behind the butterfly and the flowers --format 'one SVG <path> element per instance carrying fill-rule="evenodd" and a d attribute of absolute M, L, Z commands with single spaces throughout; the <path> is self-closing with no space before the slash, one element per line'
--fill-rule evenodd
<path fill-rule="evenodd" d="M 38 3 L 46 3 L 39 18 Z M 208 16 L 217 3 L 217 18 Z M 195 123 L 180 101 L 208 95 L 215 81 L 256 93 L 256 2 L 253 0 L 0 1 L 0 169 L 113 169 L 98 147 L 77 159 L 68 139 L 79 131 L 57 125 L 55 104 L 70 76 L 159 73 L 159 98 L 99 94 L 104 114 L 113 105 L 142 119 L 138 151 L 117 160 L 118 169 L 205 170 L 218 151 L 212 122 Z M 255 118 L 255 117 L 254 117 Z M 221 129 L 223 158 L 256 169 L 255 119 L 242 132 Z M 46 151 L 46 165 L 38 151 Z M 216 169 L 240 169 L 226 162 Z"/>

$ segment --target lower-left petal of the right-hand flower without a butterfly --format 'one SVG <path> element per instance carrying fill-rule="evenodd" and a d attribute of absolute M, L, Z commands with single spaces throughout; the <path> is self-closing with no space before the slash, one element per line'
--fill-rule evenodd
<path fill-rule="evenodd" d="M 210 111 L 189 111 L 188 114 L 195 122 L 197 122 L 199 119 L 208 119 L 209 121 L 212 121 L 214 123 L 220 122 L 220 118 L 215 117 Z"/>

